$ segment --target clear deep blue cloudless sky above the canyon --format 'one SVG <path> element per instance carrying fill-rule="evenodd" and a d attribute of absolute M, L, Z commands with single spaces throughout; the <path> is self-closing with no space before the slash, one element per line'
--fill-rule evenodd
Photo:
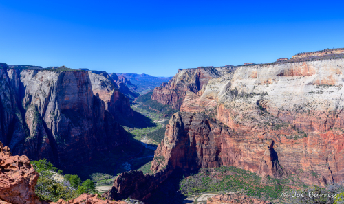
<path fill-rule="evenodd" d="M 173 76 L 344 47 L 344 1 L 3 1 L 0 62 Z"/>

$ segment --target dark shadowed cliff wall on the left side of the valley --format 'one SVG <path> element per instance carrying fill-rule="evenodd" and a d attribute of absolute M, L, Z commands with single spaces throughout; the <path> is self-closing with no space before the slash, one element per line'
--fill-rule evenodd
<path fill-rule="evenodd" d="M 103 87 L 111 89 L 113 84 L 105 84 L 103 76 L 92 75 L 98 92 L 94 95 L 87 71 L 9 69 L 3 65 L 0 75 L 0 141 L 14 155 L 68 166 L 89 161 L 96 151 L 129 142 L 111 115 L 112 108 L 106 110 L 108 95 Z M 110 106 L 130 111 L 129 100 L 118 95 L 110 91 Z"/>

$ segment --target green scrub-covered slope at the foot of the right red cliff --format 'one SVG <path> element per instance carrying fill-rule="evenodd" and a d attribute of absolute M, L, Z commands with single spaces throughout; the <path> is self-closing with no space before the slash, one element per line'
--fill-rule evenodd
<path fill-rule="evenodd" d="M 242 170 L 235 166 L 220 168 L 201 168 L 197 174 L 180 181 L 180 192 L 184 195 L 193 195 L 204 192 L 242 192 L 248 196 L 262 199 L 278 199 L 283 191 L 288 191 L 286 185 L 294 181 L 303 185 L 299 179 L 275 179 L 267 177 L 266 181 L 253 172 Z"/>

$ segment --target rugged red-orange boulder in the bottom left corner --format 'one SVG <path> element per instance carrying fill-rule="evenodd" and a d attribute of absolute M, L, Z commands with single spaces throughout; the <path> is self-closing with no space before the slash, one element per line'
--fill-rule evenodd
<path fill-rule="evenodd" d="M 39 174 L 26 156 L 12 156 L 8 146 L 0 142 L 0 201 L 8 203 L 39 203 L 34 186 Z"/>

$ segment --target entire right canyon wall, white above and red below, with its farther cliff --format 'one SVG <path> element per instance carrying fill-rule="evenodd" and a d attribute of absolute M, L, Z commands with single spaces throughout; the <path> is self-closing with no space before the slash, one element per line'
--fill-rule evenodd
<path fill-rule="evenodd" d="M 153 192 L 175 170 L 220 166 L 263 178 L 297 177 L 303 185 L 343 182 L 344 55 L 310 56 L 298 62 L 180 69 L 151 96 L 180 112 L 171 117 L 155 150 L 155 174 L 140 176 L 149 179 L 138 179 L 135 186 L 144 183 Z M 107 196 L 120 197 L 121 188 L 131 188 L 124 177 Z M 291 179 L 288 185 L 296 183 Z M 136 199 L 147 200 L 149 192 Z"/>

